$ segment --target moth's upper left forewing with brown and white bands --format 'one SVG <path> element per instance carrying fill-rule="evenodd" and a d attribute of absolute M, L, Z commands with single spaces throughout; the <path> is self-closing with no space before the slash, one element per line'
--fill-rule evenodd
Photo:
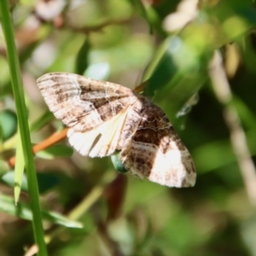
<path fill-rule="evenodd" d="M 49 110 L 75 131 L 90 131 L 135 100 L 129 88 L 73 73 L 47 73 L 37 82 Z"/>

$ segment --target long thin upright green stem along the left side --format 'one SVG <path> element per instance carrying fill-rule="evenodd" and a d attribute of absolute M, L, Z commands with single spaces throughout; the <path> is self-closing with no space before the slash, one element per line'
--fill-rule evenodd
<path fill-rule="evenodd" d="M 44 242 L 44 229 L 39 204 L 38 181 L 33 161 L 30 133 L 27 124 L 26 104 L 20 73 L 20 62 L 15 47 L 14 27 L 9 12 L 8 0 L 0 1 L 0 14 L 2 18 L 3 34 L 9 61 L 9 72 L 15 96 L 16 111 L 20 129 L 21 144 L 24 152 L 24 161 L 27 174 L 28 191 L 32 207 L 32 224 L 35 241 L 38 245 L 38 255 L 46 256 L 47 250 Z"/>

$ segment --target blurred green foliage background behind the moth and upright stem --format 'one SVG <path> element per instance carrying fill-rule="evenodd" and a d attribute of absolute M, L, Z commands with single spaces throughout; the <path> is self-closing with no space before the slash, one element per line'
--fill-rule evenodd
<path fill-rule="evenodd" d="M 67 142 L 38 153 L 44 212 L 83 224 L 45 220 L 49 255 L 256 255 L 255 7 L 238 0 L 13 3 L 32 143 L 61 128 L 38 91 L 44 73 L 131 89 L 144 82 L 198 173 L 194 188 L 170 189 L 118 174 L 110 158 L 82 157 Z M 33 235 L 29 214 L 20 215 L 26 180 L 20 212 L 11 201 L 7 161 L 17 121 L 2 33 L 0 67 L 0 254 L 24 255 Z"/>

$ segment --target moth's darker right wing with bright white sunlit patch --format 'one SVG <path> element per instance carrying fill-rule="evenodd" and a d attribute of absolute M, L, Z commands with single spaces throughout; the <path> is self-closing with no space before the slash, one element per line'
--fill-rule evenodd
<path fill-rule="evenodd" d="M 134 126 L 134 116 L 140 116 L 136 131 L 125 139 L 120 160 L 134 175 L 169 187 L 195 185 L 195 166 L 166 114 L 144 96 L 137 96 L 127 113 L 125 126 Z M 125 136 L 126 131 L 122 134 Z"/>

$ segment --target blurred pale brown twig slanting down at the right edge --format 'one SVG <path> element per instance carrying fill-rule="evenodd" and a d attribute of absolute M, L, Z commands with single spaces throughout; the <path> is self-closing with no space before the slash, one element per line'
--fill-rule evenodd
<path fill-rule="evenodd" d="M 224 121 L 230 130 L 230 142 L 236 154 L 248 198 L 253 207 L 256 207 L 256 170 L 247 147 L 246 135 L 241 127 L 236 106 L 232 103 L 230 84 L 218 50 L 215 51 L 210 63 L 209 75 L 218 102 L 223 105 Z"/>

